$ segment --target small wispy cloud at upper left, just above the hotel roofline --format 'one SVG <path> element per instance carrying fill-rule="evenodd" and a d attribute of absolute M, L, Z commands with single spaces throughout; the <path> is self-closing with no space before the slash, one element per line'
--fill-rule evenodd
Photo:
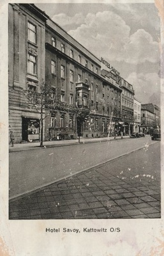
<path fill-rule="evenodd" d="M 76 13 L 73 17 L 66 15 L 65 13 L 59 13 L 52 17 L 52 20 L 60 26 L 66 26 L 71 24 L 82 24 L 84 22 L 84 15 L 82 13 Z"/>

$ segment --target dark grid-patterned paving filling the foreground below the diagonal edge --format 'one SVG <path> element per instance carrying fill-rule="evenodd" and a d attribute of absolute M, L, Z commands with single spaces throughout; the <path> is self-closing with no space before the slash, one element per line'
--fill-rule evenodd
<path fill-rule="evenodd" d="M 160 142 L 10 200 L 9 218 L 160 218 Z"/>

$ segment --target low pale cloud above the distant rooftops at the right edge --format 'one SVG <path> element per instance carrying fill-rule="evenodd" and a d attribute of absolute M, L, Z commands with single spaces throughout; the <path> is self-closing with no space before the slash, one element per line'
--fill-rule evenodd
<path fill-rule="evenodd" d="M 160 77 L 157 73 L 139 73 L 132 72 L 126 81 L 133 84 L 135 88 L 135 97 L 142 103 L 152 102 L 160 106 Z"/>

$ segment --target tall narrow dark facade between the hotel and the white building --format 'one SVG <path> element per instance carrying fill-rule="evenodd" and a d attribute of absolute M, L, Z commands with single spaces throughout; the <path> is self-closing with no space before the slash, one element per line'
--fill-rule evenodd
<path fill-rule="evenodd" d="M 133 132 L 134 125 L 134 95 L 135 91 L 133 90 L 133 86 L 125 81 L 121 77 L 120 86 L 123 90 L 122 92 L 122 121 L 123 124 L 123 134 L 128 135 Z"/>

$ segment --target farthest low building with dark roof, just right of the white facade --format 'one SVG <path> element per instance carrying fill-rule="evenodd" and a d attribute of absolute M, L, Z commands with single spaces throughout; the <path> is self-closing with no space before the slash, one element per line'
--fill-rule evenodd
<path fill-rule="evenodd" d="M 145 134 L 150 134 L 154 127 L 155 114 L 141 105 L 141 129 Z"/>

